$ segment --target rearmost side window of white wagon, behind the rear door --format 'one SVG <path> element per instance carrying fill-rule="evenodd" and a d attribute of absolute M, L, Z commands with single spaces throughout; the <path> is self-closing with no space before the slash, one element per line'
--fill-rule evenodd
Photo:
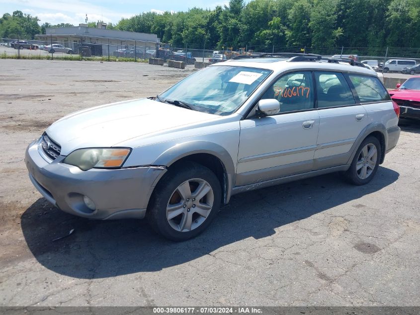
<path fill-rule="evenodd" d="M 353 74 L 348 77 L 356 90 L 360 103 L 389 101 L 388 92 L 378 78 Z"/>

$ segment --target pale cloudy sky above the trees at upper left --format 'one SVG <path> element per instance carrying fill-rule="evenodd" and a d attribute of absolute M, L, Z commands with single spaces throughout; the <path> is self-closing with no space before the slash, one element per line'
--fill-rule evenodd
<path fill-rule="evenodd" d="M 38 16 L 39 24 L 84 23 L 103 20 L 117 23 L 122 17 L 130 17 L 141 12 L 186 11 L 194 6 L 213 9 L 227 4 L 229 0 L 0 0 L 0 16 L 12 14 L 15 10 Z"/>

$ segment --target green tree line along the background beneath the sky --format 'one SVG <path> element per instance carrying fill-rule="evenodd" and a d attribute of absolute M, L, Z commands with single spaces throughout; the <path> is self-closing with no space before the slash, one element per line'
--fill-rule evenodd
<path fill-rule="evenodd" d="M 95 22 L 89 26 L 96 26 Z M 20 25 L 20 26 L 19 26 Z M 15 11 L 0 18 L 0 37 L 33 38 L 46 27 Z M 154 33 L 174 46 L 420 47 L 420 0 L 230 0 L 215 9 L 143 12 L 108 28 Z"/>

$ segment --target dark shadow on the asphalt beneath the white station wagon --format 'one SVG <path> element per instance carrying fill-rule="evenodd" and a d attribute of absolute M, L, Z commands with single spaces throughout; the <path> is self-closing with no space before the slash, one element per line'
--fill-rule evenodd
<path fill-rule="evenodd" d="M 282 225 L 380 191 L 398 177 L 397 172 L 379 167 L 365 186 L 353 186 L 343 182 L 339 174 L 328 174 L 239 194 L 206 231 L 180 243 L 160 237 L 146 220 L 89 220 L 51 208 L 43 198 L 22 214 L 21 228 L 38 262 L 59 274 L 92 279 L 152 272 L 192 261 L 239 240 L 273 235 Z M 362 207 L 354 204 L 355 208 Z"/>

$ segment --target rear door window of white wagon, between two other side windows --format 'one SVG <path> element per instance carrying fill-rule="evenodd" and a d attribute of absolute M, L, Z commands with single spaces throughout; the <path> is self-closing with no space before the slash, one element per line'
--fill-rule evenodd
<path fill-rule="evenodd" d="M 356 104 L 342 73 L 315 72 L 318 108 Z"/>

